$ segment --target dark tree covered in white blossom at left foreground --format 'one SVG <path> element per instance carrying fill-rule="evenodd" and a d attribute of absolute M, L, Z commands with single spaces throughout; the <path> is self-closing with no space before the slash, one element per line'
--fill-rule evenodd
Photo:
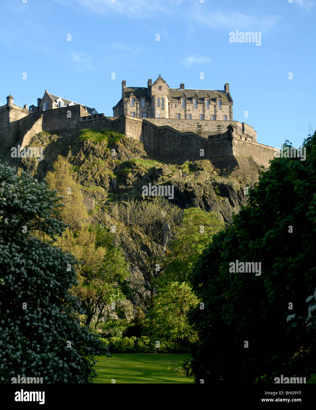
<path fill-rule="evenodd" d="M 65 225 L 51 217 L 60 198 L 46 183 L 0 164 L 0 380 L 91 383 L 101 342 L 81 326 L 78 261 L 53 240 Z M 44 241 L 35 231 L 52 237 Z"/>

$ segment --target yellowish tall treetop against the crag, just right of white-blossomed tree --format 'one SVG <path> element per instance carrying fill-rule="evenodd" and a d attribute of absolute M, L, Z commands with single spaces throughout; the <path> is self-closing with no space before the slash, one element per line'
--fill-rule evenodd
<path fill-rule="evenodd" d="M 71 225 L 73 229 L 82 228 L 88 219 L 87 208 L 82 204 L 80 187 L 72 178 L 67 158 L 58 155 L 53 164 L 54 172 L 48 171 L 46 181 L 49 189 L 57 189 L 64 207 L 56 209 L 56 218 Z"/>

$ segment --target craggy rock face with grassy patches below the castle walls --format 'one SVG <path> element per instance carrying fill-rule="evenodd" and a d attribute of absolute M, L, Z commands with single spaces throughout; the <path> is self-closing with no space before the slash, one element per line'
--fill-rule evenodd
<path fill-rule="evenodd" d="M 129 198 L 145 200 L 143 187 L 149 183 L 173 187 L 174 198 L 170 201 L 181 208 L 215 211 L 230 223 L 241 205 L 246 204 L 244 188 L 253 186 L 261 172 L 251 157 L 234 157 L 231 162 L 225 158 L 222 163 L 206 159 L 184 164 L 159 162 L 146 155 L 140 142 L 111 131 L 88 130 L 67 139 L 41 132 L 30 140 L 30 146 L 43 147 L 44 159 L 7 158 L 11 166 L 41 180 L 47 171 L 53 170 L 58 155 L 68 157 L 73 179 L 80 185 L 84 204 L 91 211 L 90 221 L 108 229 L 119 220 L 117 204 Z M 117 235 L 116 243 L 128 259 L 133 248 L 131 239 Z M 142 283 L 140 271 L 133 266 L 131 274 L 137 283 Z M 133 300 L 134 305 L 138 303 Z"/>

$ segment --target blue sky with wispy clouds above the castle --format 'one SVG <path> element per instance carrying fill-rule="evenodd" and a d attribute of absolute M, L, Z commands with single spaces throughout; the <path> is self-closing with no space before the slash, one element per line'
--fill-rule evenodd
<path fill-rule="evenodd" d="M 147 87 L 161 74 L 169 87 L 217 90 L 229 82 L 234 120 L 258 142 L 300 146 L 309 123 L 316 128 L 316 2 L 289 1 L 1 2 L 0 105 L 9 93 L 16 105 L 37 105 L 47 89 L 112 116 L 122 80 Z M 230 42 L 236 30 L 260 32 L 261 45 Z"/>

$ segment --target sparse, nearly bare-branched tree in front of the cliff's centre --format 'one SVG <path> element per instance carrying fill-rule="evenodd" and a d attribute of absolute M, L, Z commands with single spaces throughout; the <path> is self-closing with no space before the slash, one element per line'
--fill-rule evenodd
<path fill-rule="evenodd" d="M 182 218 L 180 208 L 158 196 L 147 202 L 134 199 L 118 207 L 128 237 L 128 258 L 142 273 L 130 282 L 145 307 L 153 306 L 155 280 L 172 262 L 166 255 L 176 223 Z"/>

